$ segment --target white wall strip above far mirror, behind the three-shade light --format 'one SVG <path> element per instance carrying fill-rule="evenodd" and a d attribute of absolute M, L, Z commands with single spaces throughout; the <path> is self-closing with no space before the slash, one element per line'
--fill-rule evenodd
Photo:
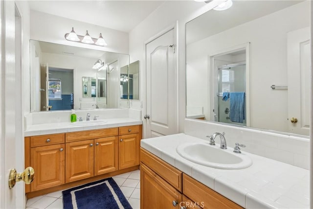
<path fill-rule="evenodd" d="M 64 35 L 69 33 L 72 27 L 74 27 L 76 34 L 82 36 L 86 34 L 86 30 L 88 30 L 92 38 L 98 38 L 99 33 L 102 33 L 108 46 L 95 46 L 67 41 Z M 30 13 L 30 39 L 124 54 L 129 52 L 128 33 L 126 32 L 33 10 Z"/>

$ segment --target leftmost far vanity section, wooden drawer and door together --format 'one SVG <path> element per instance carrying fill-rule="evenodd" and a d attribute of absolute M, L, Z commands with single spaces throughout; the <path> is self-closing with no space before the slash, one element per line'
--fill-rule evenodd
<path fill-rule="evenodd" d="M 53 145 L 47 145 L 47 144 Z M 27 166 L 35 170 L 32 191 L 65 183 L 64 134 L 43 135 L 30 138 L 30 159 Z M 28 153 L 29 154 L 29 153 Z"/>

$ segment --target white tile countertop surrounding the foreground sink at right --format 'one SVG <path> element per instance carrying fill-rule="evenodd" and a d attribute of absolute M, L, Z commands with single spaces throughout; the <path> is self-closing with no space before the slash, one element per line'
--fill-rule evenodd
<path fill-rule="evenodd" d="M 250 167 L 237 170 L 207 167 L 177 153 L 177 146 L 188 142 L 208 141 L 176 134 L 142 139 L 141 147 L 244 208 L 310 208 L 309 170 L 247 153 L 245 148 L 241 151 L 252 159 Z"/>

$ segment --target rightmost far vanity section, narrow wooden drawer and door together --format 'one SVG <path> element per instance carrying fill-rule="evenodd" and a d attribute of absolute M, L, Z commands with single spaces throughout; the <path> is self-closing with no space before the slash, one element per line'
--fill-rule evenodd
<path fill-rule="evenodd" d="M 138 165 L 141 128 L 139 125 L 119 127 L 119 134 L 119 169 Z"/>

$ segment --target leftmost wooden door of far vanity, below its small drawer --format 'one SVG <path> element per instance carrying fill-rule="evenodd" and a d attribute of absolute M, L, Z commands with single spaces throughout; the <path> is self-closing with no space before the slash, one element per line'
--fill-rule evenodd
<path fill-rule="evenodd" d="M 35 180 L 31 191 L 64 184 L 65 144 L 31 148 L 31 166 L 35 169 Z"/>

